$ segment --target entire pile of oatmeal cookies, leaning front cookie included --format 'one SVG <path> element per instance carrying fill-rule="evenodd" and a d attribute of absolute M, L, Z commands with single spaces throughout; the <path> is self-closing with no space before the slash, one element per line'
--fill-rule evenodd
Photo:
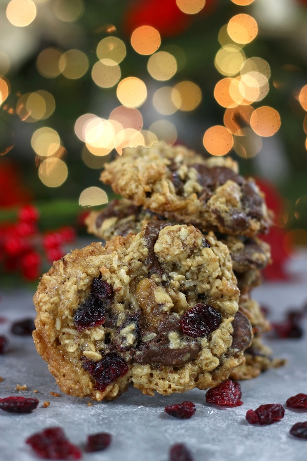
<path fill-rule="evenodd" d="M 55 261 L 34 295 L 35 345 L 62 391 L 167 395 L 270 366 L 250 298 L 270 260 L 255 183 L 230 158 L 159 144 L 126 149 L 101 179 L 123 197 L 87 218 L 105 244 Z"/>

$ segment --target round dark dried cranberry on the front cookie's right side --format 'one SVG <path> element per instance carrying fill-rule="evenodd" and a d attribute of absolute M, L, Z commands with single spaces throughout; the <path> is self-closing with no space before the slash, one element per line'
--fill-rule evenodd
<path fill-rule="evenodd" d="M 195 304 L 180 319 L 182 331 L 192 338 L 204 338 L 216 330 L 221 322 L 220 312 L 204 303 Z"/>

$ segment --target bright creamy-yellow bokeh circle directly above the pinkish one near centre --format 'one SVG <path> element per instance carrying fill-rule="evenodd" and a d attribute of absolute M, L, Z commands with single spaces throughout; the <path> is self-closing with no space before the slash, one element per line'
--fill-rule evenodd
<path fill-rule="evenodd" d="M 147 88 L 143 80 L 127 77 L 118 83 L 116 96 L 123 106 L 139 107 L 147 97 Z"/>

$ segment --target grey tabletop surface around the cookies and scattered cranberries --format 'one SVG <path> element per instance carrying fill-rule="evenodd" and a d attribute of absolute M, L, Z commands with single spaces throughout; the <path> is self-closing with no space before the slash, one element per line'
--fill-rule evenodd
<path fill-rule="evenodd" d="M 290 261 L 294 281 L 266 284 L 254 290 L 254 297 L 271 308 L 270 318 L 281 320 L 290 307 L 301 307 L 307 301 L 307 255 Z M 167 461 L 169 447 L 184 442 L 194 461 L 295 460 L 307 459 L 307 441 L 289 434 L 291 426 L 307 421 L 307 411 L 286 409 L 284 418 L 270 426 L 250 425 L 246 411 L 264 403 L 285 405 L 288 397 L 307 393 L 307 334 L 299 340 L 270 340 L 275 357 L 288 359 L 282 368 L 268 370 L 258 378 L 241 382 L 244 405 L 218 408 L 206 404 L 205 391 L 194 389 L 168 397 L 142 395 L 130 388 L 113 402 L 76 399 L 59 391 L 47 364 L 36 353 L 31 337 L 9 334 L 12 320 L 34 317 L 32 291 L 1 292 L 0 316 L 9 322 L 0 324 L 0 334 L 7 334 L 10 349 L 0 356 L 0 396 L 35 396 L 39 406 L 31 414 L 0 414 L 1 461 L 34 461 L 38 459 L 25 444 L 25 439 L 42 428 L 61 426 L 73 443 L 82 445 L 86 435 L 99 431 L 113 434 L 112 445 L 104 452 L 85 454 L 91 461 Z M 307 324 L 304 322 L 307 332 Z M 15 391 L 16 384 L 26 384 L 26 391 Z M 35 394 L 33 390 L 37 389 Z M 60 392 L 53 397 L 50 391 Z M 189 420 L 178 420 L 164 412 L 164 406 L 191 400 L 196 413 Z M 48 408 L 42 408 L 50 401 Z"/>

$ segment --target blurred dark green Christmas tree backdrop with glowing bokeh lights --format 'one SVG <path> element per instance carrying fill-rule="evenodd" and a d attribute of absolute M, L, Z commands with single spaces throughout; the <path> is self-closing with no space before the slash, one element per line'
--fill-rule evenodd
<path fill-rule="evenodd" d="M 104 162 L 159 139 L 230 152 L 307 240 L 307 2 L 11 0 L 0 25 L 0 172 L 18 166 L 43 228 L 76 223 Z"/>

